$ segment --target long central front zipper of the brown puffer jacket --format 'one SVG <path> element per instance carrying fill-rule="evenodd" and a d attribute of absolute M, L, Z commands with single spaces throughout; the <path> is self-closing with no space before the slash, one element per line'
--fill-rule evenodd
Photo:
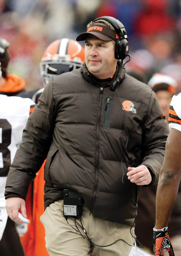
<path fill-rule="evenodd" d="M 94 190 L 93 190 L 93 197 L 91 203 L 91 210 L 90 214 L 93 212 L 93 207 L 96 199 L 96 190 L 98 184 L 98 168 L 99 168 L 99 128 L 100 128 L 100 114 L 101 114 L 101 103 L 102 103 L 102 94 L 103 94 L 103 87 L 100 87 L 100 100 L 99 100 L 99 110 L 98 110 L 98 117 L 97 117 L 97 131 L 96 131 L 96 159 L 95 159 L 95 183 L 94 183 Z"/>

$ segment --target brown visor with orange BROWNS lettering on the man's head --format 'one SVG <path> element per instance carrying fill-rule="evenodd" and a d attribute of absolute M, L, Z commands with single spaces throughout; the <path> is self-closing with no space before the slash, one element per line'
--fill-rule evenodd
<path fill-rule="evenodd" d="M 100 25 L 100 24 L 96 24 L 96 26 L 90 26 L 87 29 L 87 32 L 81 33 L 80 35 L 78 35 L 78 37 L 76 38 L 77 41 L 84 41 L 87 37 L 87 35 L 94 35 L 96 37 L 98 37 L 99 39 L 103 40 L 103 41 L 111 41 L 114 40 L 115 42 L 118 40 L 119 36 L 116 33 L 116 31 L 112 30 L 109 27 Z"/>

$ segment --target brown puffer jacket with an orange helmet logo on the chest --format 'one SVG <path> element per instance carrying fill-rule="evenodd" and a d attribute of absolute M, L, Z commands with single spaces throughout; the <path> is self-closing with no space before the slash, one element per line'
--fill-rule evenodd
<path fill-rule="evenodd" d="M 25 199 L 47 157 L 45 208 L 73 189 L 93 216 L 133 224 L 140 186 L 127 179 L 127 168 L 146 165 L 157 183 L 169 130 L 151 88 L 125 69 L 119 80 L 120 99 L 85 64 L 49 82 L 11 165 L 6 198 Z"/>

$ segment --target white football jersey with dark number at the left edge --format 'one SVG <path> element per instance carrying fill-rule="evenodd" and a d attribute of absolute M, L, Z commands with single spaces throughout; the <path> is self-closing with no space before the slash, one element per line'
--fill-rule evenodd
<path fill-rule="evenodd" d="M 4 197 L 9 166 L 22 141 L 22 133 L 34 105 L 29 98 L 0 94 L 0 200 Z"/>

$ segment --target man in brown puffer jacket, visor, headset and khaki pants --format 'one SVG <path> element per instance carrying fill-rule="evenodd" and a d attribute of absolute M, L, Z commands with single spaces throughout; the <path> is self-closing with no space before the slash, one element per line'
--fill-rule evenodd
<path fill-rule="evenodd" d="M 125 74 L 122 23 L 100 17 L 81 40 L 82 68 L 50 80 L 28 120 L 6 209 L 21 223 L 18 210 L 26 216 L 28 186 L 47 158 L 41 221 L 50 256 L 123 256 L 135 241 L 140 188 L 157 183 L 169 130 L 155 93 Z"/>

